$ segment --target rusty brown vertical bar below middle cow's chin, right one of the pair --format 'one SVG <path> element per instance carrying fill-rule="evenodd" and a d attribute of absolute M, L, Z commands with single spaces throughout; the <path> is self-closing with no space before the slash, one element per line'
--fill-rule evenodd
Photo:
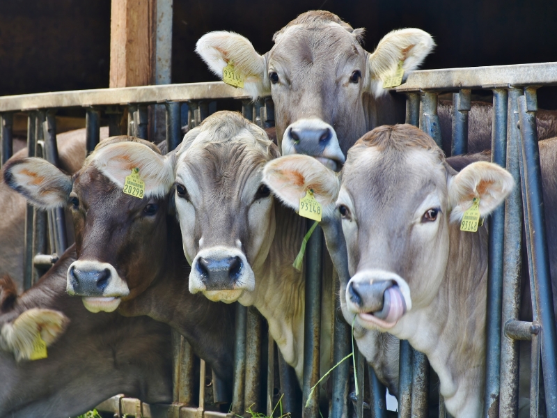
<path fill-rule="evenodd" d="M 260 410 L 260 378 L 262 348 L 262 316 L 255 309 L 248 309 L 246 316 L 246 386 L 244 407 L 254 412 Z"/>

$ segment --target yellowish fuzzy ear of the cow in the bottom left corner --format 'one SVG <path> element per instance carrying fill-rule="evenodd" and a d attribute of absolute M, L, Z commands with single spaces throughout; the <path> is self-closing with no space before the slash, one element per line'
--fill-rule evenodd
<path fill-rule="evenodd" d="M 60 336 L 70 320 L 61 312 L 52 309 L 31 308 L 19 315 L 13 323 L 2 326 L 0 348 L 11 352 L 15 359 L 31 359 L 33 342 L 40 334 L 47 347 Z"/>

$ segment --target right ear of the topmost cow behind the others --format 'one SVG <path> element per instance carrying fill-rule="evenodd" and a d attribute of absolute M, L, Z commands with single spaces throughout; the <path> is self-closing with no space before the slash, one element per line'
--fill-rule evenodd
<path fill-rule="evenodd" d="M 372 95 L 379 97 L 386 92 L 383 80 L 396 74 L 401 61 L 406 78 L 409 72 L 421 65 L 434 46 L 432 36 L 421 29 L 407 28 L 387 33 L 368 58 Z"/>

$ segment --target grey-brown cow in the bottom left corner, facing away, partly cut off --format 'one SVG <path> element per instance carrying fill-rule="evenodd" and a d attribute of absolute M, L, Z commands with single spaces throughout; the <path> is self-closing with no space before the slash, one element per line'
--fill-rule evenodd
<path fill-rule="evenodd" d="M 19 297 L 0 279 L 0 417 L 75 417 L 117 394 L 172 401 L 170 327 L 87 311 L 65 292 L 76 258 L 72 246 Z M 39 333 L 47 357 L 30 360 Z"/>

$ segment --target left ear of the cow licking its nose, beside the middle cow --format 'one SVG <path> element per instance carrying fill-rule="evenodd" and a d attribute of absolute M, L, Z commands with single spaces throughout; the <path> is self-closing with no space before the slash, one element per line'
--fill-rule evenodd
<path fill-rule="evenodd" d="M 313 196 L 323 207 L 324 217 L 332 216 L 340 190 L 340 179 L 334 171 L 313 157 L 299 154 L 267 162 L 263 169 L 263 183 L 293 209 L 298 209 L 300 199 L 308 189 L 313 189 Z"/>

